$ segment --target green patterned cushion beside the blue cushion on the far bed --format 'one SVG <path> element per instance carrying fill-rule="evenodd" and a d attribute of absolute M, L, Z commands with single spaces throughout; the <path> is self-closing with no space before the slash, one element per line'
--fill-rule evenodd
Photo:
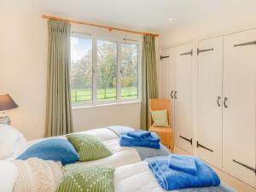
<path fill-rule="evenodd" d="M 67 140 L 79 153 L 80 161 L 99 160 L 110 156 L 111 151 L 95 136 L 87 134 L 67 135 Z"/>

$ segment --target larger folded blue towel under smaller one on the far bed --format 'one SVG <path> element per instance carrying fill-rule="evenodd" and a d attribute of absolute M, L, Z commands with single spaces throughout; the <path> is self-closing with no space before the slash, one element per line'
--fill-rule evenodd
<path fill-rule="evenodd" d="M 120 145 L 124 147 L 145 147 L 145 148 L 160 148 L 160 143 L 157 142 L 158 137 L 154 135 L 150 139 L 136 139 L 129 137 L 127 133 L 122 133 L 120 135 Z"/>

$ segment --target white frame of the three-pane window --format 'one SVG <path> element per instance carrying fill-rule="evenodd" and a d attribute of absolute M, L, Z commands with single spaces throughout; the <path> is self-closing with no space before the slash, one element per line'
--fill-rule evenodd
<path fill-rule="evenodd" d="M 71 37 L 76 38 L 89 38 L 92 40 L 92 101 L 91 102 L 79 102 L 79 103 L 72 103 L 72 108 L 88 108 L 94 106 L 104 106 L 104 105 L 111 105 L 111 104 L 123 104 L 129 102 L 141 102 L 142 96 L 142 39 L 139 38 L 132 38 L 131 41 L 125 40 L 125 37 L 121 38 L 113 38 L 113 37 L 106 37 L 106 36 L 97 36 L 97 35 L 90 35 L 84 34 L 80 32 L 73 32 Z M 109 41 L 117 43 L 117 82 L 116 82 L 116 94 L 117 99 L 113 101 L 97 101 L 96 100 L 96 91 L 97 91 L 97 79 L 96 79 L 96 62 L 97 62 L 97 50 L 96 50 L 96 41 Z M 122 99 L 121 98 L 121 44 L 137 44 L 137 98 L 133 99 Z"/>

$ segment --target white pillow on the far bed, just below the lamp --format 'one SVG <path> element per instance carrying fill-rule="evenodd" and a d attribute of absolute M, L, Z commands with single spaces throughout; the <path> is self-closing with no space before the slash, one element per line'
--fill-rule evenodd
<path fill-rule="evenodd" d="M 6 159 L 26 146 L 26 139 L 19 130 L 0 124 L 0 159 Z"/>

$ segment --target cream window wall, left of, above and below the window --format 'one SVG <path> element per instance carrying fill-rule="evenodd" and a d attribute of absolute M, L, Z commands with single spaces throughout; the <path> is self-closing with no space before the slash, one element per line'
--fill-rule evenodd
<path fill-rule="evenodd" d="M 28 139 L 44 135 L 48 33 L 42 14 L 47 12 L 23 1 L 1 1 L 0 93 L 9 93 L 19 105 L 8 114 L 12 125 Z M 74 26 L 73 30 L 115 38 L 124 35 L 85 26 Z M 135 38 L 130 34 L 125 37 Z M 139 102 L 74 109 L 74 131 L 106 125 L 138 128 L 139 114 Z"/>

